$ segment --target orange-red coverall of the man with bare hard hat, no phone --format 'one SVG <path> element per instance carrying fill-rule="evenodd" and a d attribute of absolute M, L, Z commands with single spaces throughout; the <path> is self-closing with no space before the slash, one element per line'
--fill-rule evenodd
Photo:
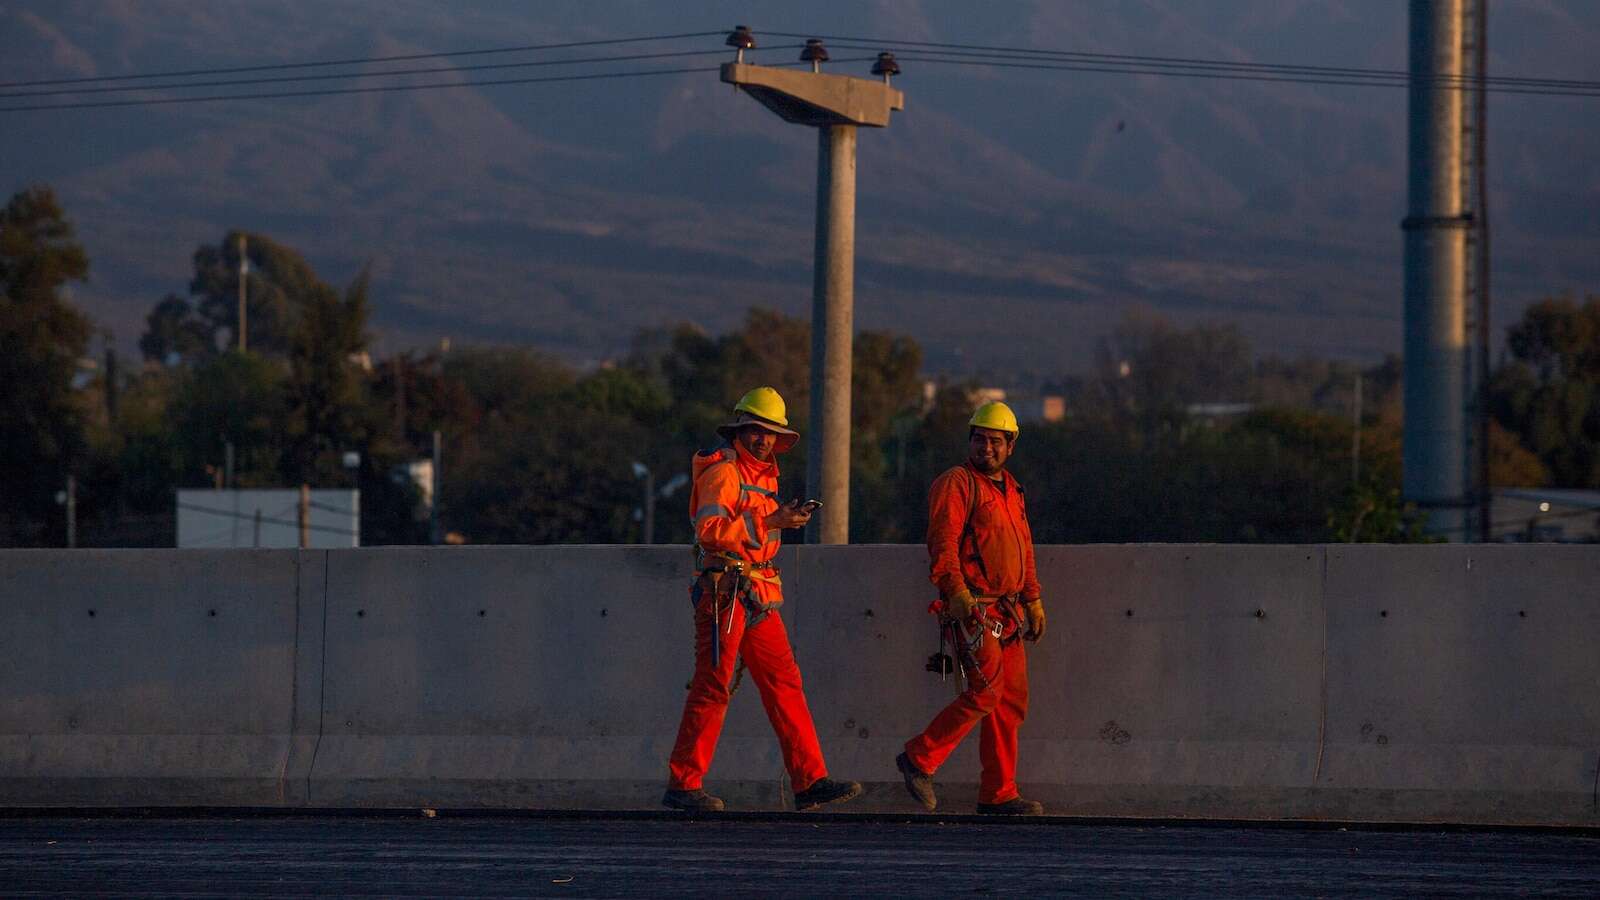
<path fill-rule="evenodd" d="M 1002 488 L 966 463 L 946 471 L 928 488 L 930 578 L 941 597 L 971 591 L 987 621 L 1000 621 L 1003 628 L 998 637 L 981 628 L 982 642 L 973 652 L 981 677 L 968 676 L 966 690 L 906 741 L 912 765 L 931 775 L 978 725 L 982 764 L 978 802 L 982 804 L 1018 796 L 1016 733 L 1027 717 L 1027 655 L 1016 623 L 995 615 L 994 601 L 1008 594 L 1021 594 L 1021 602 L 1038 599 L 1034 532 L 1027 527 L 1022 487 L 1010 472 L 1003 472 L 1003 484 Z M 966 626 L 976 628 L 973 620 Z"/>

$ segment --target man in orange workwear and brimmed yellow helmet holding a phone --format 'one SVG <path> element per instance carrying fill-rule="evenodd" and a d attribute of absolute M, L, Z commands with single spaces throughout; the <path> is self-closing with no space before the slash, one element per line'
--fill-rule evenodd
<path fill-rule="evenodd" d="M 778 501 L 778 456 L 800 440 L 789 428 L 784 399 L 757 388 L 717 428 L 726 444 L 694 455 L 694 677 L 683 701 L 678 740 L 672 746 L 667 793 L 661 802 L 693 812 L 720 810 L 722 799 L 702 788 L 728 714 L 734 663 L 744 666 L 778 732 L 784 765 L 795 790 L 795 809 L 816 809 L 861 794 L 856 781 L 827 777 L 816 725 L 800 687 L 800 666 L 778 607 L 782 583 L 773 557 L 784 528 L 811 519 L 811 508 Z"/>

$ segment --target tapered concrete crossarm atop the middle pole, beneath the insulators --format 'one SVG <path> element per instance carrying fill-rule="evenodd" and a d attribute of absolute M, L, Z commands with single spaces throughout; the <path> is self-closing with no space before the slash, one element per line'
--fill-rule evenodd
<path fill-rule="evenodd" d="M 762 106 L 795 125 L 867 125 L 885 128 L 890 110 L 906 109 L 906 94 L 883 82 L 726 62 L 722 80 L 744 88 Z"/>

